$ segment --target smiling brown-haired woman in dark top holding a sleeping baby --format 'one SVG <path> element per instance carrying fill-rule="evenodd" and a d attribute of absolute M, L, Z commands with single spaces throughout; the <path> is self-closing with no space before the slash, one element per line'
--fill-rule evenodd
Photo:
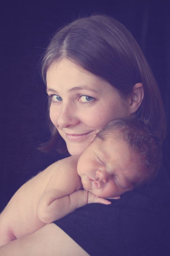
<path fill-rule="evenodd" d="M 42 60 L 42 76 L 52 122 L 43 150 L 81 154 L 109 121 L 126 116 L 149 122 L 164 139 L 164 109 L 152 72 L 135 39 L 111 17 L 81 18 L 58 31 Z M 0 255 L 168 255 L 169 196 L 160 170 L 150 186 L 109 206 L 79 208 L 4 245 Z"/>

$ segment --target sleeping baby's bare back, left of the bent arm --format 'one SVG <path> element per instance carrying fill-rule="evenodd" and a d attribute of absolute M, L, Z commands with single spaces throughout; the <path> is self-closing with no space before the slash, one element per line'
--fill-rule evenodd
<path fill-rule="evenodd" d="M 41 195 L 51 179 L 52 169 L 46 169 L 21 186 L 0 214 L 0 232 L 16 238 L 43 227 L 37 216 Z"/>

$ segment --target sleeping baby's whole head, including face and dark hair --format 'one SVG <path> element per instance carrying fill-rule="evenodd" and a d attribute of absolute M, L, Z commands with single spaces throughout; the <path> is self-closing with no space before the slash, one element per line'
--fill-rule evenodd
<path fill-rule="evenodd" d="M 100 197 L 120 196 L 149 182 L 161 163 L 161 143 L 136 118 L 120 118 L 103 128 L 78 160 L 84 189 Z"/>

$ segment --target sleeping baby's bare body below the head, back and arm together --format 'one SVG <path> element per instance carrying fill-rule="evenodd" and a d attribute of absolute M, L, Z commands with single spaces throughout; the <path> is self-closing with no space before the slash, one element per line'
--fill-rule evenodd
<path fill-rule="evenodd" d="M 70 156 L 55 162 L 18 189 L 0 214 L 0 246 L 88 203 L 110 204 L 82 188 L 78 158 Z"/>

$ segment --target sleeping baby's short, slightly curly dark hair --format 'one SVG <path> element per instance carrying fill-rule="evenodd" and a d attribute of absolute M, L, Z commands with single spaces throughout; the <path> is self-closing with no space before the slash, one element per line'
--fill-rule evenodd
<path fill-rule="evenodd" d="M 156 177 L 162 161 L 162 143 L 148 124 L 137 118 L 115 119 L 98 132 L 95 138 L 105 141 L 110 136 L 124 139 L 129 148 L 139 155 L 146 178 L 136 186 L 150 182 Z"/>

